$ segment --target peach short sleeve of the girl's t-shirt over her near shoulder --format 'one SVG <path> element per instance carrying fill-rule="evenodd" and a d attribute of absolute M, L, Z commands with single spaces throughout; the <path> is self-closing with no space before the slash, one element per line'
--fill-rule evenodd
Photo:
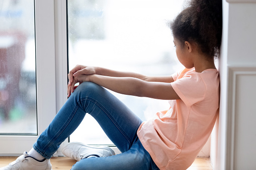
<path fill-rule="evenodd" d="M 205 97 L 206 87 L 199 73 L 189 72 L 171 85 L 187 107 L 202 101 Z"/>

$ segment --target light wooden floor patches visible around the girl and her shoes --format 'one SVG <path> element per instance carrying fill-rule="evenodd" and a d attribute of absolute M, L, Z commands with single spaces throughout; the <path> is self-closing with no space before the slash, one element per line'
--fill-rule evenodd
<path fill-rule="evenodd" d="M 0 167 L 8 165 L 10 162 L 16 160 L 17 157 L 7 156 L 0 157 Z M 75 163 L 68 157 L 52 157 L 51 164 L 53 170 L 66 170 L 71 169 L 71 166 Z M 209 158 L 197 158 L 194 163 L 188 168 L 189 170 L 212 170 L 211 162 Z"/>

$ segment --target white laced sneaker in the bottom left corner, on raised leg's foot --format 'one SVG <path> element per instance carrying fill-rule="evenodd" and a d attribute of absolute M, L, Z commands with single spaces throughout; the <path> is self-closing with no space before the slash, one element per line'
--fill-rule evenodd
<path fill-rule="evenodd" d="M 38 161 L 29 156 L 27 152 L 18 157 L 12 163 L 5 167 L 1 167 L 0 170 L 52 170 L 50 159 Z"/>

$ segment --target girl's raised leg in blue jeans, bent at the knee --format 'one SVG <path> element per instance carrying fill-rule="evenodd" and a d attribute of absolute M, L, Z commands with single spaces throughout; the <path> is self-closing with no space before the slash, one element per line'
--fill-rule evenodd
<path fill-rule="evenodd" d="M 130 149 L 142 121 L 114 95 L 92 82 L 84 82 L 75 89 L 39 136 L 33 145 L 34 149 L 45 158 L 50 158 L 78 127 L 86 113 L 90 113 L 99 122 L 120 151 Z"/>

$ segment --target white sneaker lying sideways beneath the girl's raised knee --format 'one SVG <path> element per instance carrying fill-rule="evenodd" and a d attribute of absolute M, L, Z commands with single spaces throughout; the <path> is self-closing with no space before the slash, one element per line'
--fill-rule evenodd
<path fill-rule="evenodd" d="M 64 146 L 62 153 L 77 161 L 94 155 L 97 157 L 106 157 L 115 155 L 113 149 L 108 146 L 88 146 L 79 142 L 70 142 Z M 0 169 L 1 170 L 1 169 Z"/>

